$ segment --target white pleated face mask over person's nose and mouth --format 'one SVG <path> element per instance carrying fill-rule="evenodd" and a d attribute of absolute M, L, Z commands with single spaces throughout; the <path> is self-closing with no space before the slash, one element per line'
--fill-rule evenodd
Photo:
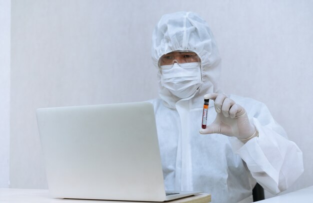
<path fill-rule="evenodd" d="M 200 63 L 174 63 L 160 68 L 162 86 L 176 97 L 190 97 L 201 84 Z"/>

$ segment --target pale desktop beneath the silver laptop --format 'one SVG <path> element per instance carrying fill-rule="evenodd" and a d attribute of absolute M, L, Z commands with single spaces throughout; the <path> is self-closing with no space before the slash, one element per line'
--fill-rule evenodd
<path fill-rule="evenodd" d="M 189 197 L 184 197 L 176 200 L 166 201 L 170 203 L 204 203 L 210 202 L 210 194 L 200 193 Z M 135 201 L 109 201 L 109 200 L 87 200 L 87 199 L 59 199 L 51 198 L 49 191 L 46 189 L 10 189 L 10 188 L 0 188 L 0 202 L 23 202 L 23 203 L 133 203 Z M 142 201 L 140 202 L 142 203 Z M 159 203 L 159 202 L 158 202 Z"/>

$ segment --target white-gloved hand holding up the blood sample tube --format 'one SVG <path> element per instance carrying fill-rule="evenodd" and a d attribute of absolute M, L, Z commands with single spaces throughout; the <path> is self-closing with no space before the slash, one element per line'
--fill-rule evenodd
<path fill-rule="evenodd" d="M 244 143 L 258 136 L 255 126 L 250 124 L 242 106 L 236 104 L 224 94 L 211 93 L 204 95 L 204 98 L 214 100 L 217 114 L 212 124 L 207 125 L 205 129 L 200 129 L 201 134 L 218 133 L 234 136 Z"/>

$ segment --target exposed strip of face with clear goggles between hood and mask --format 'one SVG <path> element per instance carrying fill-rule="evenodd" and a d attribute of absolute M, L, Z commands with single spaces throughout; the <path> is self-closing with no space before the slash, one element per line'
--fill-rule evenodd
<path fill-rule="evenodd" d="M 198 55 L 191 51 L 174 51 L 161 56 L 158 61 L 159 66 L 172 65 L 174 63 L 194 63 L 200 62 Z"/>

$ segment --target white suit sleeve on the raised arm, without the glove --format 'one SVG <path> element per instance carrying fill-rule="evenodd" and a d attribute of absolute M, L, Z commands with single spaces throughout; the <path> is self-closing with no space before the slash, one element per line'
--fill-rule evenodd
<path fill-rule="evenodd" d="M 233 137 L 232 149 L 244 160 L 252 177 L 264 189 L 277 194 L 287 189 L 303 172 L 302 152 L 287 139 L 285 131 L 264 104 L 257 102 L 253 108 L 248 105 L 246 110 L 250 110 L 248 116 L 258 137 L 245 144 Z"/>

